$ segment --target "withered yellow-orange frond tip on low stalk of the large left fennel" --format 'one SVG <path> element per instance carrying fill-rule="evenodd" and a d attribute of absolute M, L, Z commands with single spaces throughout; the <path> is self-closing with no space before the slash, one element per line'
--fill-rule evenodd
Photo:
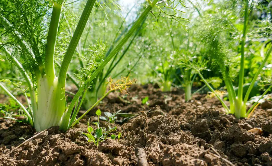
<path fill-rule="evenodd" d="M 132 83 L 136 83 L 136 79 L 133 78 L 132 80 L 128 77 L 121 77 L 121 79 L 117 81 L 113 81 L 111 77 L 108 78 L 109 90 L 116 90 L 119 89 L 121 94 L 128 94 L 128 88 L 131 86 Z"/>

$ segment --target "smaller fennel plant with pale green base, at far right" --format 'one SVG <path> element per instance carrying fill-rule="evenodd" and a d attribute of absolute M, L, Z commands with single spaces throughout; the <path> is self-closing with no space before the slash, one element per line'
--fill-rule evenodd
<path fill-rule="evenodd" d="M 264 55 L 263 61 L 260 64 L 259 68 L 254 74 L 254 77 L 252 78 L 250 85 L 248 89 L 246 90 L 245 95 L 243 95 L 244 91 L 244 63 L 245 63 L 245 49 L 247 47 L 246 45 L 246 37 L 247 37 L 247 31 L 248 31 L 248 14 L 249 11 L 252 10 L 252 6 L 254 6 L 254 2 L 251 2 L 249 5 L 248 0 L 241 1 L 241 4 L 243 5 L 243 25 L 241 34 L 239 30 L 233 26 L 232 21 L 228 19 L 228 16 L 225 15 L 224 18 L 222 15 L 213 16 L 213 18 L 209 17 L 209 21 L 212 23 L 207 23 L 207 26 L 204 26 L 206 30 L 202 32 L 202 40 L 205 41 L 205 47 L 207 49 L 207 54 L 209 58 L 212 60 L 213 64 L 215 66 L 218 66 L 221 70 L 223 80 L 225 83 L 225 87 L 228 91 L 228 98 L 230 106 L 228 107 L 222 99 L 219 97 L 218 94 L 214 91 L 212 86 L 208 83 L 208 81 L 203 77 L 201 70 L 197 69 L 198 74 L 200 78 L 205 82 L 207 87 L 215 93 L 216 97 L 220 100 L 223 107 L 225 108 L 227 113 L 232 113 L 235 115 L 236 118 L 240 117 L 247 117 L 248 114 L 252 111 L 254 106 L 257 104 L 253 104 L 253 106 L 247 110 L 247 101 L 249 99 L 249 94 L 255 84 L 255 81 L 257 80 L 259 74 L 261 73 L 265 63 L 267 62 L 268 57 L 271 55 L 271 40 L 267 40 L 264 42 L 264 48 L 266 50 L 266 53 Z M 228 14 L 228 12 L 225 12 Z M 224 14 L 225 14 L 224 13 Z M 234 17 L 232 17 L 234 18 Z M 212 25 L 212 26 L 211 26 Z M 271 25 L 271 24 L 270 24 Z M 201 25 L 203 26 L 203 25 Z M 253 27 L 257 27 L 259 25 L 253 24 Z M 251 30 L 254 30 L 254 28 L 251 28 Z M 261 28 L 258 30 L 262 30 Z M 240 63 L 238 68 L 238 57 L 235 55 L 235 52 L 232 50 L 234 48 L 232 47 L 233 42 L 235 42 L 234 38 L 238 34 L 241 35 L 240 37 L 240 49 L 238 52 L 240 53 Z M 254 34 L 254 32 L 251 32 L 251 34 Z M 259 36 L 257 36 L 259 37 Z M 234 86 L 232 85 L 232 81 L 236 77 L 236 73 L 239 70 L 238 73 L 238 93 L 235 92 Z M 264 94 L 262 97 L 271 90 L 271 85 L 269 88 L 264 91 Z M 261 98 L 260 98 L 261 99 Z"/>

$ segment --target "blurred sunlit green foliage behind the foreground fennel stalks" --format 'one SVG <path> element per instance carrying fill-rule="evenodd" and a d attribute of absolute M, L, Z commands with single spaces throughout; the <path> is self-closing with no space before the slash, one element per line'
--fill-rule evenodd
<path fill-rule="evenodd" d="M 131 27 L 148 5 L 144 0 L 97 0 L 70 64 L 67 84 L 76 91 L 84 74 L 82 69 L 96 68 L 105 59 L 118 39 Z M 169 5 L 167 7 L 160 7 Z M 179 4 L 175 9 L 171 6 Z M 184 88 L 186 72 L 193 81 L 193 91 L 207 93 L 203 80 L 189 65 L 201 67 L 204 78 L 214 88 L 224 89 L 222 72 L 228 71 L 234 87 L 238 86 L 237 72 L 243 29 L 243 0 L 166 0 L 152 10 L 141 28 L 117 53 L 103 72 L 93 81 L 88 102 L 105 93 L 105 80 L 109 76 L 120 78 L 129 73 L 140 84 L 156 84 L 163 91 L 170 87 Z M 61 15 L 56 45 L 56 61 L 60 64 L 71 40 L 85 2 L 68 0 Z M 144 6 L 143 6 L 144 5 Z M 50 8 L 50 5 L 47 6 Z M 4 10 L 4 9 L 1 9 Z M 250 83 L 264 59 L 271 43 L 271 0 L 249 1 L 249 16 L 245 43 L 244 81 Z M 48 13 L 44 14 L 47 17 Z M 16 16 L 17 17 L 17 16 Z M 15 24 L 12 23 L 12 24 Z M 44 28 L 48 28 L 47 19 Z M 0 25 L 3 30 L 3 26 Z M 43 29 L 40 29 L 42 31 Z M 25 32 L 24 32 L 25 33 Z M 41 36 L 43 37 L 43 36 Z M 45 38 L 45 37 L 44 37 Z M 3 37 L 1 41 L 5 40 Z M 43 41 L 43 40 L 41 40 Z M 44 43 L 45 41 L 43 41 Z M 40 44 L 40 46 L 43 45 Z M 180 64 L 187 62 L 187 65 Z M 56 63 L 56 67 L 58 67 Z M 203 65 L 205 64 L 205 65 Z M 0 55 L 0 79 L 21 82 L 18 70 Z M 271 56 L 259 75 L 250 97 L 261 95 L 271 84 Z M 88 68 L 89 67 L 89 68 Z M 58 70 L 58 69 L 57 69 Z M 22 89 L 24 81 L 22 81 Z M 249 84 L 245 84 L 247 88 Z M 15 85 L 10 85 L 16 89 Z M 204 86 L 204 87 L 203 87 Z M 245 91 L 244 91 L 245 92 Z M 1 91 L 2 93 L 2 91 Z M 18 91 L 18 94 L 23 94 Z M 3 94 L 3 93 L 2 93 Z M 92 102 L 94 102 L 92 101 Z M 87 103 L 88 103 L 87 102 Z M 88 106 L 86 106 L 88 107 Z"/>

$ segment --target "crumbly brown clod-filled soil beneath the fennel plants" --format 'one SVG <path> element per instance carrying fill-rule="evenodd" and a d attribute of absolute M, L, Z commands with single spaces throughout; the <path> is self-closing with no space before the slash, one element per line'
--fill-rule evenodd
<path fill-rule="evenodd" d="M 141 104 L 144 97 L 147 104 Z M 271 165 L 271 103 L 257 107 L 250 119 L 224 113 L 216 98 L 196 94 L 185 102 L 183 91 L 161 92 L 152 85 L 134 85 L 129 95 L 112 93 L 78 125 L 66 132 L 58 126 L 5 155 L 35 134 L 23 123 L 0 119 L 0 165 Z M 137 113 L 117 126 L 121 139 L 96 147 L 81 134 L 87 120 L 102 113 Z M 121 117 L 118 117 L 118 120 Z M 95 126 L 93 126 L 95 127 Z M 261 128 L 259 135 L 247 132 Z"/>

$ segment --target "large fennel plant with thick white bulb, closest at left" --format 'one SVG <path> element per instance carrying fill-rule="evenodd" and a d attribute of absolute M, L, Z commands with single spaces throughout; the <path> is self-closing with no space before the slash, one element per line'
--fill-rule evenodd
<path fill-rule="evenodd" d="M 78 112 L 75 106 L 77 106 L 76 103 L 79 97 L 83 92 L 83 96 L 86 95 L 86 91 L 92 81 L 127 42 L 158 0 L 152 2 L 148 0 L 147 2 L 147 7 L 137 21 L 134 22 L 104 61 L 87 76 L 87 79 L 82 83 L 79 91 L 68 106 L 66 105 L 65 97 L 68 67 L 92 9 L 99 2 L 96 2 L 96 0 L 88 0 L 86 2 L 73 37 L 68 44 L 68 48 L 63 53 L 64 56 L 58 76 L 56 76 L 55 71 L 55 46 L 64 1 L 57 0 L 52 3 L 37 1 L 37 5 L 34 6 L 36 9 L 34 12 L 31 5 L 34 3 L 33 1 L 21 2 L 14 0 L 11 2 L 0 2 L 0 8 L 4 11 L 1 12 L 0 18 L 5 27 L 4 34 L 6 37 L 4 40 L 1 40 L 1 50 L 18 67 L 27 82 L 31 96 L 31 113 L 24 109 L 22 104 L 18 104 L 25 111 L 29 122 L 37 131 L 57 125 L 60 126 L 61 130 L 66 131 L 72 125 Z M 52 6 L 52 9 L 50 9 L 52 10 L 51 17 L 47 15 L 49 6 Z M 47 22 L 48 20 L 50 20 L 50 23 Z M 47 26 L 48 28 L 46 28 Z M 62 45 L 57 44 L 57 46 Z M 1 84 L 1 88 L 10 97 L 15 98 L 4 85 Z M 73 111 L 74 107 L 75 110 Z"/>

